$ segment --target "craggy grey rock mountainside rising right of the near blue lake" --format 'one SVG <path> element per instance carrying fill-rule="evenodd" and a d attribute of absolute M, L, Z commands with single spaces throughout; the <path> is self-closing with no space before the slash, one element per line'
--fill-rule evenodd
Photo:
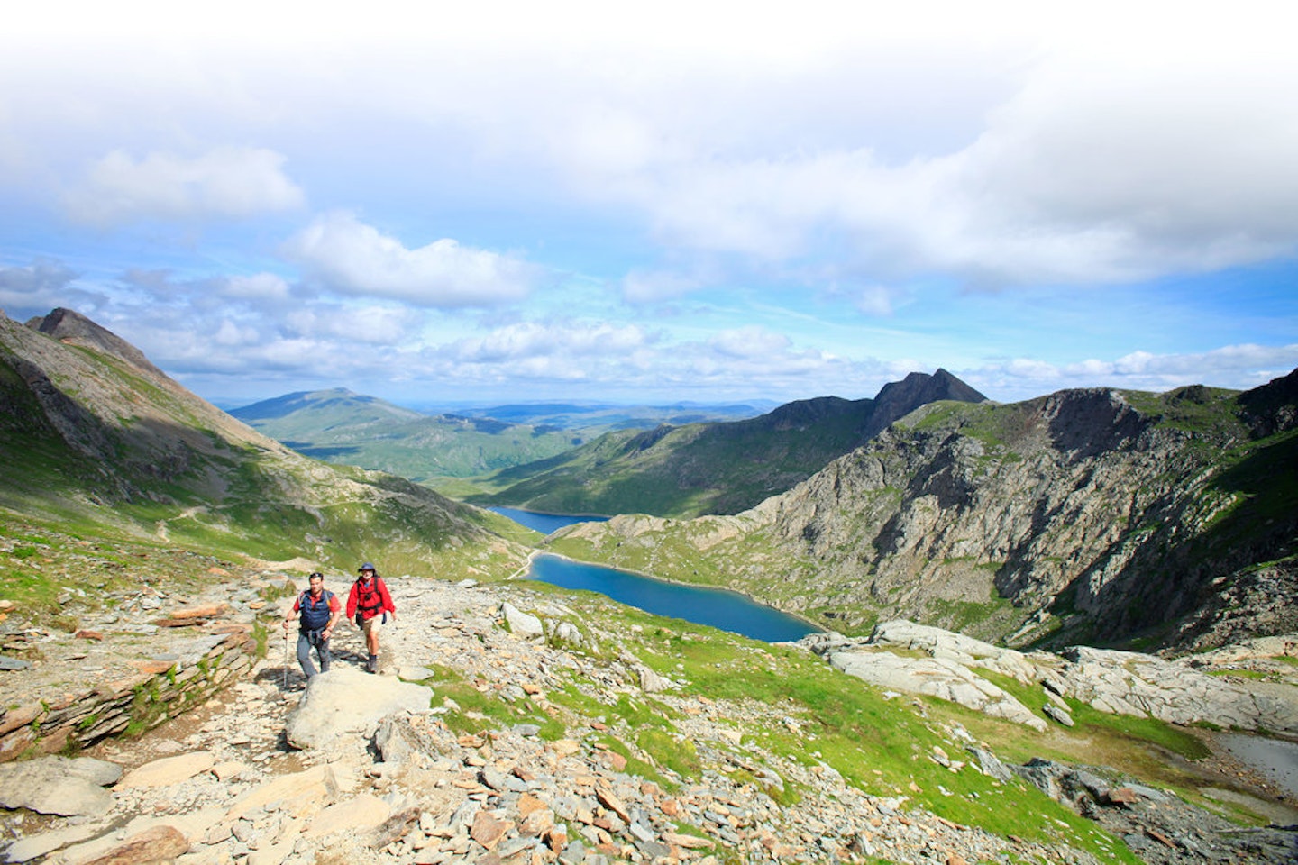
<path fill-rule="evenodd" d="M 923 406 L 736 516 L 567 529 L 582 559 L 839 630 L 1219 646 L 1298 629 L 1298 371 L 1238 393 Z"/>

